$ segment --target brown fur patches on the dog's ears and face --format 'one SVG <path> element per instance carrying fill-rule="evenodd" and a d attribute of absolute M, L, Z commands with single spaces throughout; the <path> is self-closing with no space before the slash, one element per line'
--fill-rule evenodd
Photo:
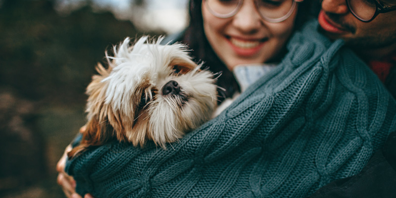
<path fill-rule="evenodd" d="M 109 65 L 113 65 L 109 62 Z M 197 67 L 194 61 L 182 58 L 174 58 L 170 61 L 170 68 L 176 69 L 180 74 L 186 74 Z M 115 110 L 111 104 L 106 103 L 106 90 L 109 82 L 104 81 L 111 71 L 112 67 L 104 68 L 101 64 L 96 67 L 98 75 L 92 77 L 92 82 L 87 87 L 88 122 L 82 127 L 82 141 L 79 146 L 68 152 L 69 158 L 73 158 L 91 146 L 104 145 L 110 140 L 119 142 L 130 142 L 134 146 L 143 147 L 147 140 L 152 140 L 152 130 L 150 129 L 149 119 L 145 106 L 140 106 L 142 97 L 146 99 L 155 98 L 158 90 L 153 88 L 149 79 L 141 80 L 138 88 L 134 90 L 134 96 L 130 101 L 130 110 Z M 148 90 L 151 90 L 151 93 Z M 186 128 L 186 127 L 185 127 Z M 189 129 L 191 130 L 191 129 Z M 166 140 L 168 141 L 168 140 Z M 154 141 L 155 144 L 157 142 Z M 163 143 L 159 143 L 164 147 Z"/>

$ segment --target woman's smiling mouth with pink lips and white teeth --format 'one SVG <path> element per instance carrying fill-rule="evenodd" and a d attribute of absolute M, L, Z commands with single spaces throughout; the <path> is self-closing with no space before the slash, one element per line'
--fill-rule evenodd
<path fill-rule="evenodd" d="M 259 39 L 239 39 L 230 37 L 228 42 L 236 54 L 240 56 L 252 56 L 255 55 L 261 47 L 265 44 L 266 40 Z"/>

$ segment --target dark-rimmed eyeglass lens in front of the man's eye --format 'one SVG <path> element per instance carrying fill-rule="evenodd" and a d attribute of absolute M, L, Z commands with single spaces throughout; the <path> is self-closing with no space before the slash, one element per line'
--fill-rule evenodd
<path fill-rule="evenodd" d="M 375 0 L 347 0 L 347 3 L 350 11 L 363 21 L 373 18 L 377 9 Z"/>

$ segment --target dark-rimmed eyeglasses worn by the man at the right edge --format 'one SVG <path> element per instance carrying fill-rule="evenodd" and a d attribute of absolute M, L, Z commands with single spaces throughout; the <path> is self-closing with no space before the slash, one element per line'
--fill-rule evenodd
<path fill-rule="evenodd" d="M 350 12 L 363 22 L 372 21 L 379 13 L 396 10 L 396 6 L 387 6 L 379 0 L 347 0 Z"/>

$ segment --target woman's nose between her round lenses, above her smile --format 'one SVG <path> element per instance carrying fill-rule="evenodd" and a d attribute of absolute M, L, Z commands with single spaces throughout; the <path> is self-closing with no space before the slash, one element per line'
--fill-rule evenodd
<path fill-rule="evenodd" d="M 244 33 L 254 33 L 262 27 L 262 19 L 254 0 L 244 0 L 242 7 L 233 17 L 233 25 Z"/>

